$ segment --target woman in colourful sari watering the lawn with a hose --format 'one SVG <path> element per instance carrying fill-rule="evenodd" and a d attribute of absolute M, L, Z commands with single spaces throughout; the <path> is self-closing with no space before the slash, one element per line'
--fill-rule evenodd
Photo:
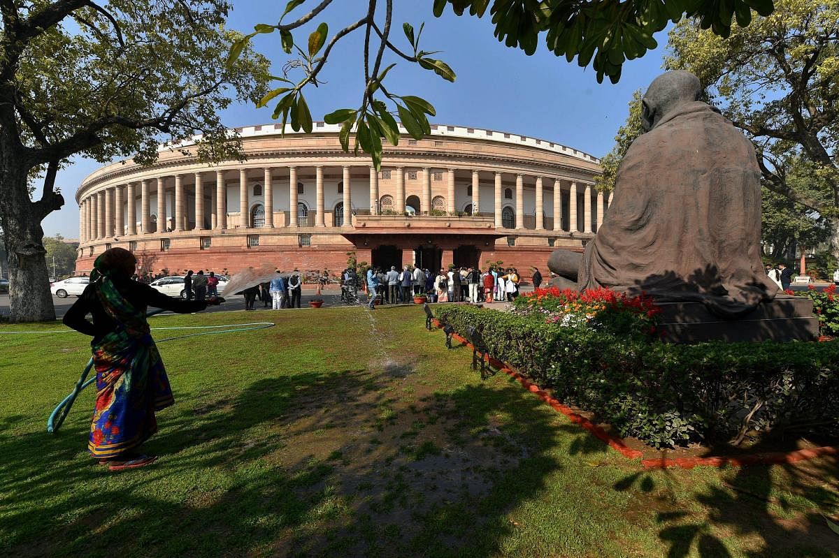
<path fill-rule="evenodd" d="M 192 313 L 224 301 L 219 297 L 205 301 L 167 297 L 132 281 L 135 266 L 137 260 L 127 250 L 103 252 L 93 264 L 90 285 L 64 316 L 67 327 L 93 337 L 96 408 L 87 448 L 114 471 L 154 462 L 157 457 L 136 450 L 157 431 L 155 411 L 175 403 L 149 332 L 146 308 Z M 88 313 L 92 323 L 86 318 Z"/>

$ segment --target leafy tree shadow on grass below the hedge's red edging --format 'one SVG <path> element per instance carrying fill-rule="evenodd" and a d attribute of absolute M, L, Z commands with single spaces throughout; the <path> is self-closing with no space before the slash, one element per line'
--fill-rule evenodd
<path fill-rule="evenodd" d="M 755 452 L 762 448 L 756 445 Z M 734 473 L 731 477 L 728 473 Z M 836 457 L 825 457 L 797 464 L 750 465 L 721 472 L 722 486 L 707 485 L 693 493 L 692 499 L 705 508 L 705 517 L 696 519 L 696 511 L 685 508 L 674 489 L 690 482 L 686 476 L 699 474 L 696 469 L 683 472 L 665 469 L 659 472 L 633 473 L 615 483 L 616 490 L 638 490 L 646 499 L 663 504 L 656 522 L 659 538 L 668 546 L 669 558 L 698 555 L 702 558 L 725 558 L 733 555 L 758 556 L 836 556 L 839 535 L 831 532 L 821 510 L 836 510 L 839 493 Z M 833 483 L 833 488 L 826 488 Z M 661 484 L 663 486 L 657 486 Z M 659 489 L 656 489 L 659 488 Z M 639 495 L 642 500 L 644 496 Z M 714 529 L 711 529 L 711 526 Z M 724 533 L 758 543 L 745 550 L 731 550 Z"/>

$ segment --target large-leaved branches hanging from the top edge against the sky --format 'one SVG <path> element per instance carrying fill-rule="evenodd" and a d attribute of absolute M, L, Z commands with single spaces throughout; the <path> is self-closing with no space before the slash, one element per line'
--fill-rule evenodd
<path fill-rule="evenodd" d="M 367 12 L 362 14 L 362 18 L 337 31 L 331 39 L 327 40 L 329 28 L 326 23 L 320 23 L 305 41 L 295 39 L 293 31 L 310 22 L 332 1 L 321 0 L 316 5 L 311 3 L 314 8 L 309 13 L 284 23 L 289 13 L 305 3 L 305 0 L 290 0 L 278 23 L 258 23 L 253 33 L 232 44 L 228 63 L 232 64 L 257 34 L 279 32 L 285 54 L 297 57 L 289 60 L 286 69 L 300 69 L 303 75 L 294 80 L 289 79 L 288 71 L 284 71 L 282 77 L 274 76 L 274 80 L 282 85 L 268 92 L 258 106 L 275 102 L 274 118 L 281 118 L 283 125 L 290 119 L 294 131 L 311 132 L 312 116 L 303 88 L 308 84 L 318 85 L 317 76 L 332 48 L 347 34 L 363 29 L 365 88 L 361 105 L 332 111 L 324 116 L 324 120 L 330 124 L 341 124 L 339 137 L 344 151 L 349 150 L 350 134 L 355 132 L 354 152 L 361 148 L 370 153 L 378 169 L 382 161 L 383 139 L 394 146 L 398 145 L 399 134 L 403 132 L 420 139 L 430 134 L 428 116 L 436 114 L 434 106 L 425 99 L 396 94 L 385 88 L 385 77 L 395 63 L 383 67 L 383 54 L 387 52 L 419 65 L 444 80 L 453 82 L 456 74 L 446 62 L 433 57 L 437 51 L 420 49 L 424 23 L 419 28 L 414 28 L 411 23 L 402 24 L 407 46 L 400 46 L 396 39 L 392 39 L 393 0 L 369 0 Z M 384 4 L 383 22 L 377 23 L 377 8 L 381 3 Z M 591 63 L 597 72 L 598 82 L 608 75 L 612 83 L 620 79 L 626 59 L 641 57 L 648 49 L 658 46 L 653 35 L 668 21 L 697 16 L 701 17 L 701 25 L 713 29 L 714 33 L 727 35 L 732 18 L 736 17 L 738 23 L 748 25 L 752 9 L 763 14 L 771 13 L 773 9 L 772 0 L 717 0 L 714 3 L 701 0 L 597 0 L 586 3 L 575 0 L 492 0 L 492 3 L 490 0 L 434 0 L 435 16 L 440 17 L 447 5 L 451 5 L 459 16 L 469 13 L 482 18 L 488 10 L 498 40 L 509 47 L 523 49 L 526 54 L 534 54 L 539 34 L 544 33 L 545 44 L 557 56 L 564 55 L 568 61 L 576 58 L 581 66 Z M 277 97 L 279 101 L 276 101 Z"/>

